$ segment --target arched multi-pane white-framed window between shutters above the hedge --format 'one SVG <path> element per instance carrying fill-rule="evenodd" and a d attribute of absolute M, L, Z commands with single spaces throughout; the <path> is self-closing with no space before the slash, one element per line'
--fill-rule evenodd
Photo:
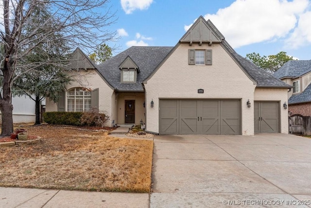
<path fill-rule="evenodd" d="M 86 112 L 91 108 L 91 91 L 77 87 L 67 91 L 67 111 Z"/>

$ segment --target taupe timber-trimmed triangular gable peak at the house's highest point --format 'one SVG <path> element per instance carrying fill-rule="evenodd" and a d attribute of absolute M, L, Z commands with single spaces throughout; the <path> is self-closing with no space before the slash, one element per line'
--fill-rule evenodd
<path fill-rule="evenodd" d="M 221 34 L 220 34 L 221 35 Z M 207 24 L 204 17 L 200 16 L 179 40 L 180 43 L 220 43 L 224 37 L 216 34 Z"/>

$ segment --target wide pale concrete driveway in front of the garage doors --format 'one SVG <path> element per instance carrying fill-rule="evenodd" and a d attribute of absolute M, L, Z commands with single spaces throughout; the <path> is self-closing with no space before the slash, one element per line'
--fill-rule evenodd
<path fill-rule="evenodd" d="M 311 139 L 155 136 L 150 207 L 311 207 Z"/>

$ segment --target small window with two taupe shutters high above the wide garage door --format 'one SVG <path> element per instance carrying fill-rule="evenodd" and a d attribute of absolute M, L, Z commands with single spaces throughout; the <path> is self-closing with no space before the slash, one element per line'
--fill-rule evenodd
<path fill-rule="evenodd" d="M 196 50 L 188 51 L 189 65 L 212 65 L 212 50 Z"/>

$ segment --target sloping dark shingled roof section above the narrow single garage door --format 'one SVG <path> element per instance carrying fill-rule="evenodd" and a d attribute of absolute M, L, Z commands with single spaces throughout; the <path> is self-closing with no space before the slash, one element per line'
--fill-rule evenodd
<path fill-rule="evenodd" d="M 240 64 L 248 72 L 248 74 L 258 82 L 257 87 L 291 87 L 290 85 L 282 82 L 281 80 L 276 79 L 271 74 L 259 68 L 238 53 L 232 52 L 232 54 L 240 62 Z"/>

